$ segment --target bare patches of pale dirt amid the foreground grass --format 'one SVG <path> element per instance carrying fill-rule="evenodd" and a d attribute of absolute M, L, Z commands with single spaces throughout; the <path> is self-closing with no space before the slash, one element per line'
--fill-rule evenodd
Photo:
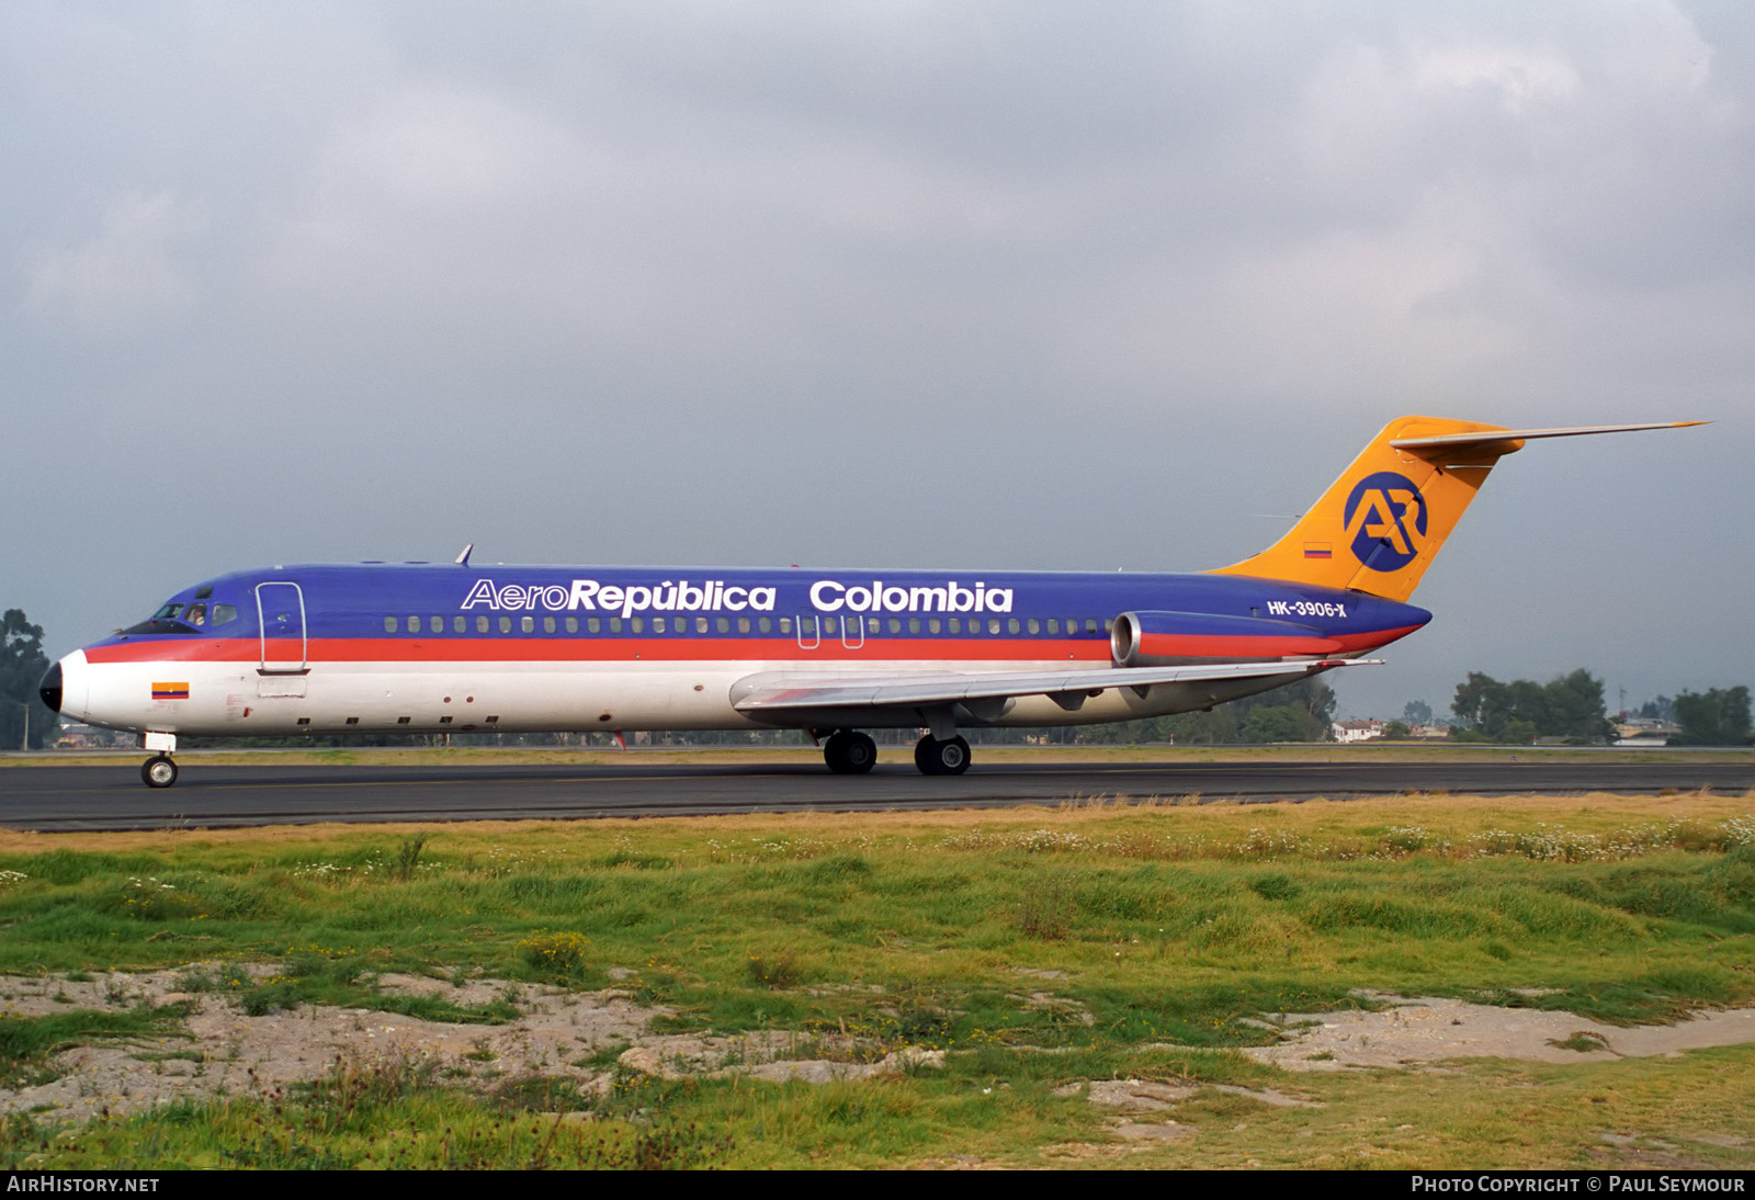
<path fill-rule="evenodd" d="M 442 995 L 458 1005 L 505 1000 L 521 1014 L 518 1019 L 505 1025 L 448 1025 L 326 1005 L 246 1016 L 225 995 L 177 991 L 177 981 L 188 970 L 111 972 L 81 981 L 0 977 L 0 1016 L 123 1011 L 142 1002 L 161 1005 L 177 1000 L 195 1007 L 179 1030 L 151 1040 L 91 1044 L 60 1053 L 53 1060 L 56 1079 L 0 1089 L 0 1114 L 30 1112 L 81 1121 L 176 1098 L 272 1095 L 323 1075 L 337 1061 L 362 1067 L 430 1063 L 437 1079 L 477 1088 L 549 1075 L 569 1079 L 581 1091 L 605 1089 L 616 1068 L 651 1075 L 737 1072 L 772 1081 L 827 1082 L 942 1063 L 942 1051 L 900 1051 L 879 1058 L 876 1049 L 855 1039 L 784 1032 L 732 1039 L 660 1035 L 651 1032 L 651 1023 L 667 1011 L 639 1005 L 628 991 L 560 991 L 491 979 L 456 986 L 442 979 L 383 975 L 377 984 L 386 993 Z M 274 968 L 256 970 L 269 975 Z M 1244 1053 L 1286 1070 L 1357 1070 L 1446 1058 L 1567 1063 L 1755 1042 L 1755 1009 L 1701 1012 L 1667 1026 L 1622 1028 L 1567 1012 L 1462 1000 L 1374 998 L 1385 1005 L 1374 1012 L 1265 1014 L 1262 1025 L 1281 1040 Z M 1042 1004 L 1053 996 L 1032 991 L 1028 1000 Z M 1185 1098 L 1167 1095 L 1167 1084 L 1141 1081 L 1081 1081 L 1067 1088 L 1067 1095 L 1083 1091 L 1100 1107 L 1139 1116 Z M 1300 1104 L 1271 1091 L 1250 1095 L 1264 1104 Z M 1160 1139 L 1183 1132 L 1174 1121 L 1127 1119 L 1121 1125 L 1125 1137 Z"/>

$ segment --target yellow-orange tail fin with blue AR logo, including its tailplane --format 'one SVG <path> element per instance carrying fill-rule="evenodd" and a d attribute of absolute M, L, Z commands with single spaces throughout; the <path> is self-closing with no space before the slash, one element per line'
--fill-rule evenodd
<path fill-rule="evenodd" d="M 1406 600 L 1494 463 L 1523 449 L 1525 440 L 1687 425 L 1702 421 L 1508 430 L 1446 418 L 1399 418 L 1383 426 L 1290 533 L 1255 558 L 1211 574 L 1295 579 Z"/>

